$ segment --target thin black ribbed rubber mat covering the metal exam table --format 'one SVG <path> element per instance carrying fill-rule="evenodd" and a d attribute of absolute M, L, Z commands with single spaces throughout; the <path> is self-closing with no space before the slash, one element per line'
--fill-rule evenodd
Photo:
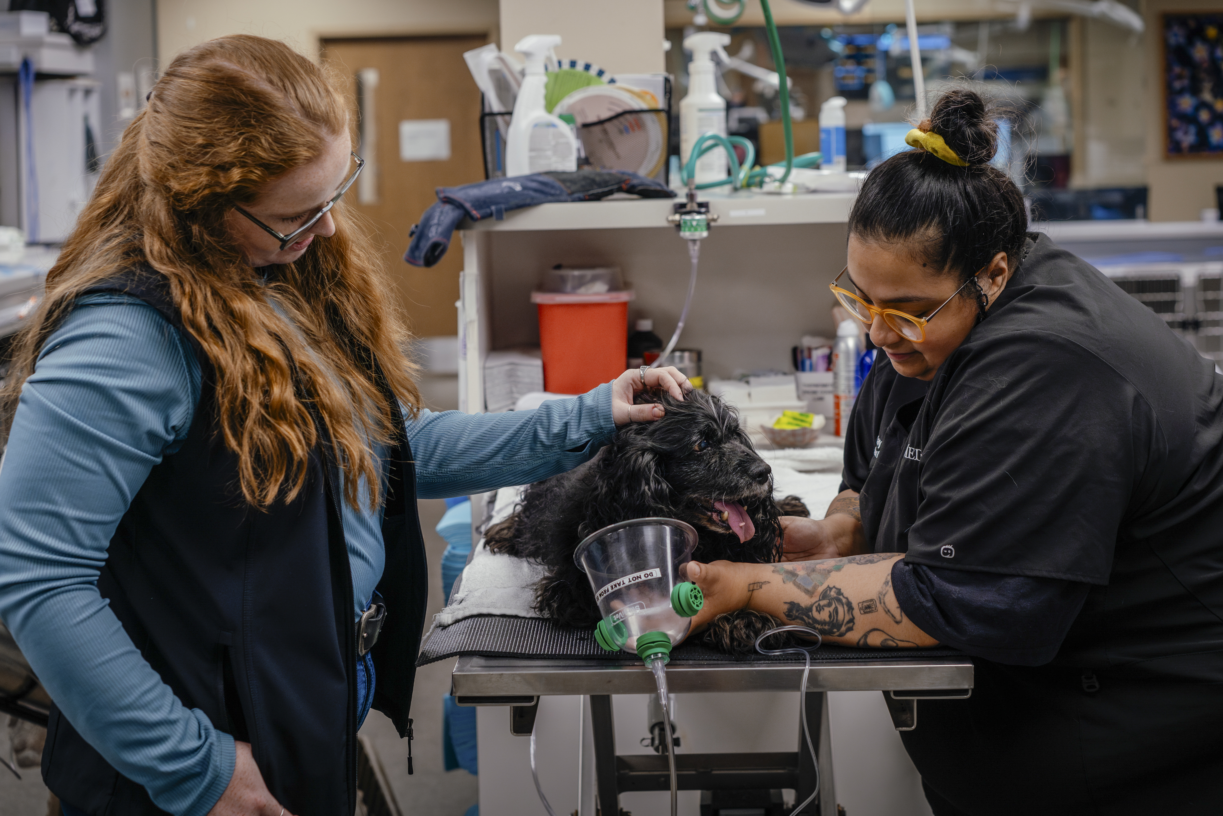
<path fill-rule="evenodd" d="M 542 618 L 510 615 L 472 615 L 444 629 L 435 629 L 421 648 L 417 666 L 444 661 L 448 657 L 521 657 L 625 661 L 627 652 L 604 651 L 593 631 L 567 629 Z M 822 646 L 811 652 L 812 662 L 821 661 L 888 661 L 896 657 L 965 657 L 954 648 L 850 648 Z M 673 663 L 801 663 L 800 655 L 751 655 L 737 658 L 717 652 L 696 642 L 680 644 L 671 652 Z"/>

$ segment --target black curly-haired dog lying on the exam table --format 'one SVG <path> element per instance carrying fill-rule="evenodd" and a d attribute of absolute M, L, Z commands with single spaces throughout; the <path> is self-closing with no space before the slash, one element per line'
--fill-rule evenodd
<path fill-rule="evenodd" d="M 597 530 L 645 516 L 680 519 L 700 536 L 693 560 L 773 563 L 781 559 L 778 519 L 810 515 L 796 497 L 773 499 L 772 469 L 739 427 L 734 409 L 718 398 L 691 391 L 680 401 L 657 391 L 636 401 L 662 402 L 667 414 L 621 427 L 591 461 L 536 482 L 514 514 L 486 533 L 489 551 L 548 569 L 536 587 L 536 609 L 566 626 L 592 629 L 599 620 L 591 584 L 574 564 L 577 544 Z M 755 535 L 740 542 L 715 502 L 741 505 Z M 702 637 L 720 651 L 746 655 L 761 632 L 777 625 L 775 618 L 744 609 L 719 615 Z"/>

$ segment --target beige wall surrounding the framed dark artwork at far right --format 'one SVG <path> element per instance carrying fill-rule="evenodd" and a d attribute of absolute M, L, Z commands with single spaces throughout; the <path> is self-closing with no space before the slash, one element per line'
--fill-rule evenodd
<path fill-rule="evenodd" d="M 1196 221 L 1216 206 L 1214 186 L 1223 185 L 1223 159 L 1166 159 L 1163 117 L 1163 48 L 1161 15 L 1175 11 L 1221 10 L 1219 0 L 1146 0 L 1147 186 L 1151 220 Z"/>

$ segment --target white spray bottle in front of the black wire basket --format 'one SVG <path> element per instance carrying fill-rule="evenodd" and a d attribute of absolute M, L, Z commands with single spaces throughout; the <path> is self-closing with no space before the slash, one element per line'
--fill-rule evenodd
<path fill-rule="evenodd" d="M 514 46 L 526 56 L 526 75 L 514 103 L 514 119 L 505 137 L 505 175 L 577 170 L 577 138 L 560 117 L 544 105 L 544 59 L 556 45 L 556 34 L 530 34 Z"/>

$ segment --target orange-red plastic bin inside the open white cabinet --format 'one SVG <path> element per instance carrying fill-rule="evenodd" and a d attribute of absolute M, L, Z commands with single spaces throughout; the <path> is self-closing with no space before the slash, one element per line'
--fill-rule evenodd
<path fill-rule="evenodd" d="M 632 290 L 602 295 L 531 292 L 539 310 L 543 387 L 585 394 L 624 373 Z"/>

